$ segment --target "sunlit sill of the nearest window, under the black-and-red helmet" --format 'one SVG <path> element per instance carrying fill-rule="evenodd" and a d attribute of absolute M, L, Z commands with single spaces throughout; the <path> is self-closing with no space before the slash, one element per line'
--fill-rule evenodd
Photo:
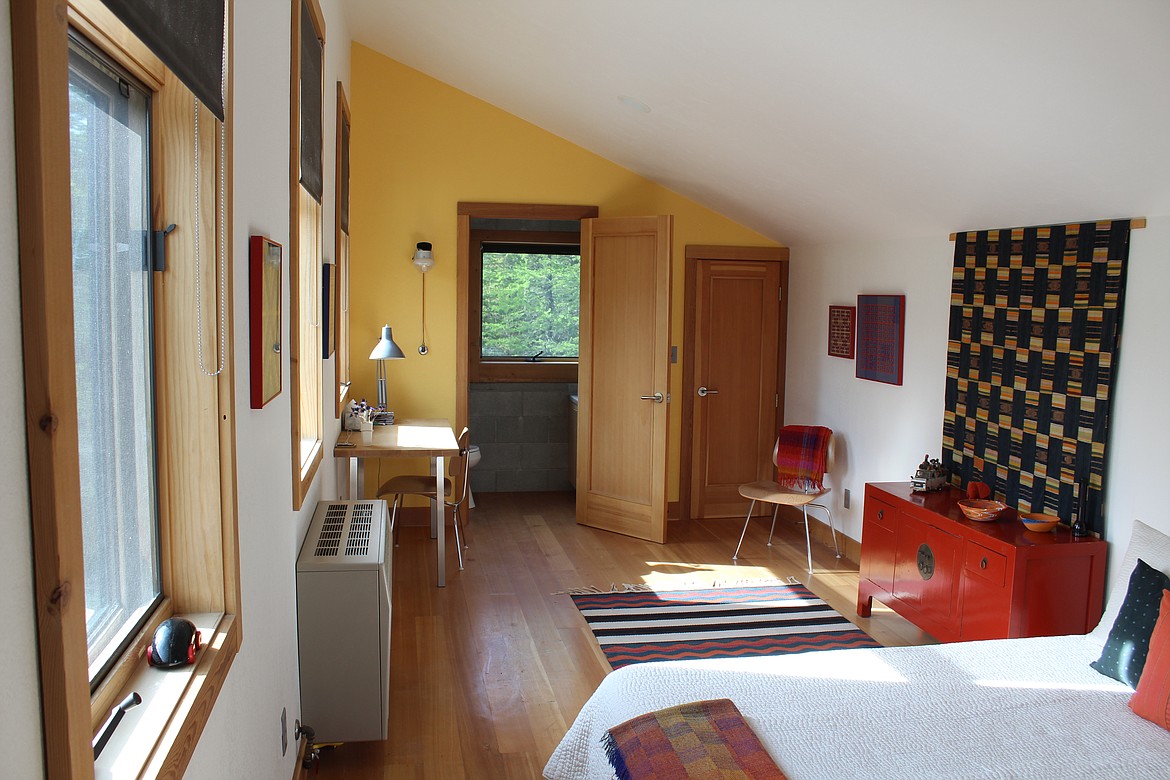
<path fill-rule="evenodd" d="M 240 649 L 240 624 L 234 615 L 221 613 L 181 616 L 199 628 L 204 648 L 191 667 L 158 669 L 147 665 L 145 655 L 138 661 L 118 700 L 137 691 L 143 703 L 126 711 L 95 761 L 98 780 L 181 776 L 191 760 Z"/>

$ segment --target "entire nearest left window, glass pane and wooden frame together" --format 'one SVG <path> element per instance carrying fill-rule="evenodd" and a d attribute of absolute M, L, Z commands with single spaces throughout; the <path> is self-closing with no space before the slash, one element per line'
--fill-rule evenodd
<path fill-rule="evenodd" d="M 46 776 L 94 775 L 95 732 L 131 690 L 156 715 L 124 723 L 97 772 L 178 776 L 241 636 L 230 126 L 104 4 L 64 8 L 68 25 L 35 4 L 12 13 Z M 173 614 L 204 649 L 144 669 Z"/>

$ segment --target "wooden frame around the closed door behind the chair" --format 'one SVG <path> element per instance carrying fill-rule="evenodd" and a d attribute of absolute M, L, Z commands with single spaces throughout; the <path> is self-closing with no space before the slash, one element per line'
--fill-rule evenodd
<path fill-rule="evenodd" d="M 695 318 L 695 304 L 698 296 L 698 263 L 703 261 L 732 261 L 732 262 L 756 262 L 778 263 L 780 267 L 780 316 L 779 334 L 777 337 L 776 356 L 776 387 L 779 393 L 777 405 L 777 420 L 779 426 L 784 421 L 784 370 L 787 353 L 789 332 L 789 296 L 785 290 L 789 285 L 789 248 L 787 247 L 736 247 L 725 244 L 687 244 L 684 292 L 683 292 L 683 329 L 682 329 L 682 435 L 680 439 L 681 451 L 679 460 L 679 519 L 690 519 L 690 471 L 694 447 L 689 432 L 695 423 L 695 395 L 693 387 L 695 384 L 695 341 L 697 338 L 697 322 Z"/>

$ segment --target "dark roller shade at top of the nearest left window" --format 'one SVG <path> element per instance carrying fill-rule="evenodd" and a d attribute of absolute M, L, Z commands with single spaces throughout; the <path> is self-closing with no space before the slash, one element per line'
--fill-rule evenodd
<path fill-rule="evenodd" d="M 103 0 L 223 120 L 223 0 Z"/>

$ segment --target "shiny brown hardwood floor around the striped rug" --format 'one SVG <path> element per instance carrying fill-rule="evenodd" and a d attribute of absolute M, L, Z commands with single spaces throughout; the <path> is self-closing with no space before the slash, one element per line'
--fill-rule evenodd
<path fill-rule="evenodd" d="M 322 752 L 323 779 L 459 780 L 541 776 L 553 747 L 608 664 L 565 588 L 647 582 L 787 579 L 807 585 L 887 646 L 930 637 L 893 612 L 855 613 L 858 570 L 813 543 L 805 571 L 804 530 L 755 522 L 739 565 L 731 552 L 742 520 L 669 525 L 656 545 L 578 526 L 571 493 L 476 496 L 466 568 L 448 544 L 446 588 L 434 586 L 434 548 L 424 527 L 404 527 L 394 557 L 390 739 Z M 311 724 L 310 724 L 311 725 Z"/>

